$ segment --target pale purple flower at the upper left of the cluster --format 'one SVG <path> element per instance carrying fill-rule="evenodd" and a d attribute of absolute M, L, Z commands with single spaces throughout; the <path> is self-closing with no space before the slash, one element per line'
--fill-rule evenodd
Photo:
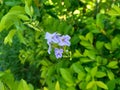
<path fill-rule="evenodd" d="M 45 39 L 47 39 L 48 45 L 51 44 L 52 42 L 58 43 L 59 42 L 59 34 L 57 34 L 56 32 L 53 34 L 46 32 Z"/>

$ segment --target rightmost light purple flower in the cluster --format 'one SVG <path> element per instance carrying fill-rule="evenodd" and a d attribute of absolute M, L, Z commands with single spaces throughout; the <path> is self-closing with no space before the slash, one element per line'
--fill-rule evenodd
<path fill-rule="evenodd" d="M 60 37 L 60 42 L 59 45 L 60 46 L 70 46 L 70 36 L 69 35 L 63 35 Z"/>

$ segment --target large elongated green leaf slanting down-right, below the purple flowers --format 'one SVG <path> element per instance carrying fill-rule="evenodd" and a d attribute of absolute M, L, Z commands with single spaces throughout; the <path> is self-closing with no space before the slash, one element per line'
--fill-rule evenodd
<path fill-rule="evenodd" d="M 72 74 L 68 69 L 61 68 L 60 73 L 66 82 L 74 84 Z"/>

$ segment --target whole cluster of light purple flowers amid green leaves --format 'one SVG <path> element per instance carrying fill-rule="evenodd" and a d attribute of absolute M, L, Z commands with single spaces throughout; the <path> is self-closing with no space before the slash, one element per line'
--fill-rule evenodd
<path fill-rule="evenodd" d="M 55 56 L 56 58 L 62 58 L 62 54 L 63 54 L 63 49 L 62 48 L 58 48 L 58 47 L 64 47 L 64 46 L 70 46 L 70 36 L 69 35 L 60 35 L 58 33 L 49 33 L 46 32 L 45 34 L 45 39 L 47 39 L 47 44 L 49 46 L 48 48 L 48 53 L 50 54 L 51 50 L 52 50 L 52 45 L 53 44 L 57 44 L 57 47 L 54 48 L 54 52 L 55 52 Z"/>

